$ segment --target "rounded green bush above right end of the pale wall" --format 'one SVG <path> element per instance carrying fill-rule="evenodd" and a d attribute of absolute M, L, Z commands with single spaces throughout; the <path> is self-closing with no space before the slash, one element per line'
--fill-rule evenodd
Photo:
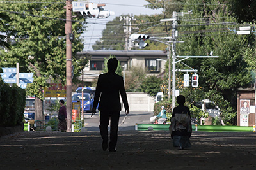
<path fill-rule="evenodd" d="M 139 89 L 141 92 L 145 92 L 150 96 L 156 96 L 157 92 L 161 91 L 161 83 L 161 78 L 157 78 L 156 76 L 148 76 L 147 78 L 144 78 Z"/>

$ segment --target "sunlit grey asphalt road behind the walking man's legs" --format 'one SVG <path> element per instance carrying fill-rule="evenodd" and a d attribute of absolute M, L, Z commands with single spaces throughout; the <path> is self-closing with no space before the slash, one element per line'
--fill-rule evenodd
<path fill-rule="evenodd" d="M 84 114 L 85 127 L 84 131 L 99 131 L 99 112 L 91 117 L 92 113 Z M 129 115 L 125 115 L 124 111 L 120 113 L 118 131 L 135 130 L 135 124 L 149 124 L 149 118 L 153 113 L 147 111 L 132 111 Z"/>

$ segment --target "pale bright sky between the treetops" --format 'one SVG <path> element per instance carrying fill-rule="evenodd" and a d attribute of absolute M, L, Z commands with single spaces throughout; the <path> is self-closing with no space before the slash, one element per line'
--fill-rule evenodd
<path fill-rule="evenodd" d="M 145 8 L 144 5 L 148 4 L 145 0 L 93 0 L 90 3 L 100 3 L 106 4 L 104 10 L 109 10 L 115 12 L 115 15 L 110 16 L 106 19 L 97 19 L 97 18 L 87 18 L 87 31 L 81 36 L 84 39 L 84 50 L 93 50 L 92 45 L 95 41 L 99 40 L 102 37 L 102 30 L 106 28 L 106 23 L 113 20 L 116 16 L 120 15 L 153 15 L 160 14 L 163 11 L 163 8 L 158 10 L 152 10 Z M 96 24 L 90 24 L 90 23 Z M 123 21 L 120 23 L 124 23 Z"/>

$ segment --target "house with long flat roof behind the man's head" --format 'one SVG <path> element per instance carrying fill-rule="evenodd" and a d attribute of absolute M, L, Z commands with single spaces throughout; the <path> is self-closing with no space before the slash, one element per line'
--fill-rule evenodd
<path fill-rule="evenodd" d="M 78 52 L 78 56 L 90 56 L 88 66 L 84 68 L 84 82 L 90 83 L 97 79 L 104 69 L 104 59 L 114 55 L 123 67 L 127 66 L 127 71 L 131 67 L 145 67 L 150 75 L 157 75 L 164 71 L 167 53 L 161 50 L 95 50 Z M 161 60 L 157 60 L 161 59 Z"/>

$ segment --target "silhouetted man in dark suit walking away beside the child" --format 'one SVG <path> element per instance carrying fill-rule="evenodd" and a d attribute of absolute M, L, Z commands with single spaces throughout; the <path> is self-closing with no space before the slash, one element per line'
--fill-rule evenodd
<path fill-rule="evenodd" d="M 108 73 L 101 74 L 98 79 L 94 103 L 93 113 L 96 113 L 96 107 L 100 99 L 99 108 L 100 111 L 100 135 L 102 136 L 102 149 L 107 150 L 108 148 L 108 125 L 109 118 L 110 122 L 110 142 L 109 151 L 116 151 L 117 133 L 118 133 L 118 122 L 121 111 L 120 96 L 124 103 L 125 114 L 129 114 L 129 106 L 127 102 L 127 96 L 124 88 L 124 80 L 122 76 L 115 73 L 118 66 L 118 60 L 111 58 L 108 60 Z"/>

